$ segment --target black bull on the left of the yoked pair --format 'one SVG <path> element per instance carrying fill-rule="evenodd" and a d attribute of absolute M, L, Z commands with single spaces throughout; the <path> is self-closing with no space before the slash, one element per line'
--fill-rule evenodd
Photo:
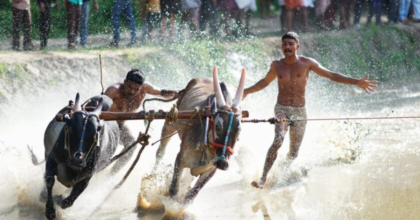
<path fill-rule="evenodd" d="M 52 199 L 54 176 L 63 185 L 72 187 L 66 198 L 57 201 L 61 208 L 70 207 L 86 188 L 93 173 L 109 165 L 115 152 L 119 142 L 118 125 L 116 121 L 98 118 L 100 111 L 111 107 L 112 100 L 106 95 L 98 95 L 91 98 L 86 106 L 94 106 L 95 103 L 98 105 L 93 111 L 82 110 L 77 93 L 73 117 L 66 115 L 65 122 L 52 119 L 45 129 L 45 216 L 48 219 L 55 218 Z M 58 113 L 66 111 L 63 108 Z"/>

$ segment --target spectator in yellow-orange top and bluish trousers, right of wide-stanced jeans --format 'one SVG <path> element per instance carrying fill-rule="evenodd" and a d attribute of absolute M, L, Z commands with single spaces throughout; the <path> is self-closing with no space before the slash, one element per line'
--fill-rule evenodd
<path fill-rule="evenodd" d="M 154 28 L 160 26 L 160 2 L 159 0 L 147 0 L 146 24 L 141 32 L 140 41 L 145 41 L 145 36 L 151 40 L 150 34 Z"/>

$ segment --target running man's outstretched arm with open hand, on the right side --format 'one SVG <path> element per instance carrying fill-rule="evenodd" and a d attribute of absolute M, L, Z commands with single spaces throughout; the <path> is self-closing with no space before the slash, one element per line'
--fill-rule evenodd
<path fill-rule="evenodd" d="M 346 75 L 343 75 L 339 72 L 333 72 L 328 70 L 327 68 L 323 67 L 321 64 L 319 64 L 316 60 L 309 58 L 309 62 L 310 62 L 310 69 L 312 71 L 314 71 L 316 74 L 323 76 L 323 77 L 327 77 L 332 81 L 336 81 L 339 83 L 345 83 L 345 84 L 353 84 L 353 85 L 357 85 L 360 88 L 362 88 L 363 90 L 365 90 L 367 93 L 370 93 L 371 91 L 375 91 L 373 88 L 376 88 L 377 85 L 375 85 L 375 83 L 377 81 L 373 80 L 373 81 L 369 81 L 367 80 L 369 78 L 369 75 L 366 74 L 366 76 L 364 76 L 363 78 L 353 78 L 353 77 L 348 77 Z"/>

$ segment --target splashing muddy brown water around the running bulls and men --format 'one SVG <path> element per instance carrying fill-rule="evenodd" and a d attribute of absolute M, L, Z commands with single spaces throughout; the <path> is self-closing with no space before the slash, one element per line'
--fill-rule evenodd
<path fill-rule="evenodd" d="M 328 83 L 317 77 L 311 79 L 309 118 L 420 115 L 417 83 L 381 84 L 371 95 L 349 86 L 323 89 Z M 271 86 L 243 101 L 243 108 L 251 112 L 252 118 L 272 115 L 274 89 Z M 87 89 L 81 90 L 82 98 L 93 95 Z M 32 165 L 25 148 L 33 147 L 42 158 L 43 130 L 55 111 L 73 96 L 68 91 L 37 99 L 22 95 L 17 98 L 26 102 L 21 102 L 20 107 L 10 106 L 1 118 L 1 219 L 44 218 L 45 204 L 38 201 L 44 164 Z M 169 106 L 149 105 L 162 109 Z M 144 129 L 139 121 L 128 124 L 134 134 Z M 161 121 L 153 122 L 152 140 L 158 139 L 161 125 Z M 283 168 L 288 150 L 286 137 L 266 187 L 256 189 L 250 182 L 261 174 L 273 128 L 269 124 L 244 124 L 229 170 L 217 171 L 183 211 L 192 219 L 416 219 L 420 216 L 419 127 L 420 119 L 310 121 L 299 155 L 290 168 Z M 167 147 L 165 164 L 173 163 L 178 145 L 179 139 L 174 137 Z M 111 189 L 123 171 L 115 176 L 109 175 L 109 169 L 97 173 L 72 207 L 62 210 L 56 206 L 57 218 L 161 219 L 163 212 L 133 212 L 141 178 L 154 165 L 155 149 L 148 146 L 144 150 L 139 164 L 117 190 Z M 309 170 L 307 175 L 302 168 Z M 68 190 L 56 182 L 54 193 L 68 194 Z M 165 204 L 167 208 L 176 206 L 176 202 Z"/>

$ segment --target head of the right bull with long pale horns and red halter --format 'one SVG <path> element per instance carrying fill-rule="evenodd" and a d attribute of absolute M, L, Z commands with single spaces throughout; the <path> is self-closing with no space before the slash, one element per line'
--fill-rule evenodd
<path fill-rule="evenodd" d="M 218 80 L 217 68 L 213 67 L 214 94 L 220 106 L 213 110 L 211 114 L 213 126 L 210 134 L 212 135 L 211 139 L 213 139 L 212 145 L 215 154 L 213 165 L 222 170 L 226 170 L 229 167 L 229 157 L 233 154 L 234 145 L 239 136 L 242 117 L 239 105 L 244 85 L 245 69 L 242 69 L 232 105 L 226 105 Z"/>

